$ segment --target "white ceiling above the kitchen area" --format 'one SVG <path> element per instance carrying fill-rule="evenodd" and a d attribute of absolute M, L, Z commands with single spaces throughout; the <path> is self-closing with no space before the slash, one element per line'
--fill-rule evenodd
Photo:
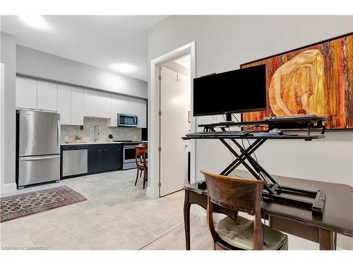
<path fill-rule="evenodd" d="M 43 16 L 49 30 L 30 28 L 18 16 L 1 16 L 1 31 L 18 45 L 114 71 L 131 64 L 126 76 L 147 81 L 148 29 L 165 16 Z"/>

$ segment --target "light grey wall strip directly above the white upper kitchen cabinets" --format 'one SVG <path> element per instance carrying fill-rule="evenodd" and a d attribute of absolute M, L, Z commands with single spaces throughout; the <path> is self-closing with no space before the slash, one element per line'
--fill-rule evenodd
<path fill-rule="evenodd" d="M 17 45 L 17 73 L 147 98 L 147 82 Z"/>

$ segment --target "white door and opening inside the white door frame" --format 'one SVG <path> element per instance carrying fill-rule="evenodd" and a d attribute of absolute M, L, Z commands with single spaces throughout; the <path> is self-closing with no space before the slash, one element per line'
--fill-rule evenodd
<path fill-rule="evenodd" d="M 189 141 L 181 139 L 191 123 L 191 56 L 186 54 L 159 66 L 160 196 L 188 182 Z"/>

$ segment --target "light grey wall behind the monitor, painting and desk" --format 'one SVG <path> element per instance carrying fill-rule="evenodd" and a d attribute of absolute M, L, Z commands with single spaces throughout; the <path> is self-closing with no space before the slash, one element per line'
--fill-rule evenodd
<path fill-rule="evenodd" d="M 169 16 L 150 29 L 148 61 L 195 40 L 196 76 L 203 76 L 352 30 L 353 16 Z M 256 155 L 276 175 L 353 185 L 353 132 L 328 132 L 311 142 L 269 141 Z M 196 143 L 198 179 L 200 170 L 220 172 L 231 161 L 219 141 Z M 349 242 L 343 247 L 352 248 Z"/>

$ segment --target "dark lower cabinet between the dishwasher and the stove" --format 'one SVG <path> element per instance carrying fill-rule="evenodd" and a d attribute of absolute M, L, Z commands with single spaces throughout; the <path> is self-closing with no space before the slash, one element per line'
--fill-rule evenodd
<path fill-rule="evenodd" d="M 119 143 L 88 146 L 88 174 L 121 170 L 122 145 Z"/>

